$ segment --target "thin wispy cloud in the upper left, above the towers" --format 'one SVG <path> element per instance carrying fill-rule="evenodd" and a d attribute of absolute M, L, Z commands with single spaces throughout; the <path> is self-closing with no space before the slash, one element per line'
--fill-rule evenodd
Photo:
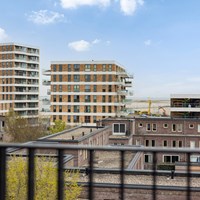
<path fill-rule="evenodd" d="M 63 14 L 48 10 L 32 11 L 32 14 L 28 16 L 28 19 L 35 24 L 51 24 L 61 21 L 63 18 Z"/>

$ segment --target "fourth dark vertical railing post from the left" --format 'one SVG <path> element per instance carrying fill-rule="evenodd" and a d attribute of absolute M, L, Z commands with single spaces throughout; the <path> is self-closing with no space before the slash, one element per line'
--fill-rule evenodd
<path fill-rule="evenodd" d="M 89 200 L 93 200 L 93 165 L 94 165 L 94 150 L 90 150 L 89 160 Z"/>

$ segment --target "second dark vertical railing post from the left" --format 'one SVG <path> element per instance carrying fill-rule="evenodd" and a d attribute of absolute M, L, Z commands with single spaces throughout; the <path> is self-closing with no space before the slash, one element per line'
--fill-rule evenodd
<path fill-rule="evenodd" d="M 29 149 L 29 160 L 28 160 L 28 199 L 34 200 L 35 194 L 35 162 L 34 162 L 34 149 Z"/>

